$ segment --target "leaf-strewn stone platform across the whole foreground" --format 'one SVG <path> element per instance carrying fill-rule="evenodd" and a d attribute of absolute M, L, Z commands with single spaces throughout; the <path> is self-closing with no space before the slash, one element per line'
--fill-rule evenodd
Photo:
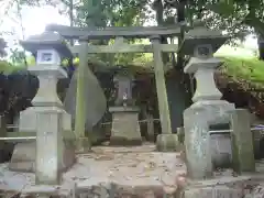
<path fill-rule="evenodd" d="M 215 172 L 208 180 L 186 180 L 180 153 L 158 153 L 155 146 L 94 147 L 79 154 L 63 175 L 61 186 L 36 186 L 31 173 L 0 165 L 0 195 L 64 198 L 258 198 L 264 197 L 264 162 L 257 173 L 238 176 L 231 169 Z M 15 196 L 18 195 L 18 196 Z M 258 196 L 258 197 L 257 197 Z"/>

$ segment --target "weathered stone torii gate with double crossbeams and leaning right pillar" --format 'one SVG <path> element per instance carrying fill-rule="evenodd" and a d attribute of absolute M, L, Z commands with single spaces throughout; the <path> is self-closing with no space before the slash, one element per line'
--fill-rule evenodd
<path fill-rule="evenodd" d="M 162 53 L 176 53 L 178 46 L 175 44 L 161 44 L 161 36 L 174 37 L 180 34 L 180 26 L 151 26 L 151 28 L 69 28 L 64 25 L 48 25 L 46 31 L 57 32 L 65 38 L 80 41 L 80 45 L 73 46 L 72 52 L 79 54 L 79 70 L 77 77 L 76 96 L 76 121 L 75 133 L 77 145 L 84 148 L 89 142 L 85 136 L 85 81 L 84 74 L 88 63 L 88 54 L 98 53 L 153 53 L 155 80 L 158 98 L 160 119 L 162 134 L 157 136 L 158 151 L 175 151 L 178 143 L 176 134 L 172 133 L 167 92 L 164 77 L 164 63 Z M 114 38 L 113 45 L 88 45 L 89 40 Z M 123 38 L 150 38 L 151 45 L 130 45 Z"/>

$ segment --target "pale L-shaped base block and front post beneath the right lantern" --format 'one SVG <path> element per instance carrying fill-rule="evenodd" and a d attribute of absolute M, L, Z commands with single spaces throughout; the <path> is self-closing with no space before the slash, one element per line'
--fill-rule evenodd
<path fill-rule="evenodd" d="M 184 112 L 188 176 L 202 179 L 212 176 L 209 127 L 229 123 L 234 106 L 223 100 L 198 101 Z"/>

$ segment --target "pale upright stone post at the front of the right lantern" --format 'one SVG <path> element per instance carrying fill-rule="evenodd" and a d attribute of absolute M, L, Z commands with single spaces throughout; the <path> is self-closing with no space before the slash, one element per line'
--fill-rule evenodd
<path fill-rule="evenodd" d="M 196 112 L 190 108 L 184 113 L 187 172 L 195 179 L 212 176 L 209 125 L 205 117 L 206 111 Z"/>

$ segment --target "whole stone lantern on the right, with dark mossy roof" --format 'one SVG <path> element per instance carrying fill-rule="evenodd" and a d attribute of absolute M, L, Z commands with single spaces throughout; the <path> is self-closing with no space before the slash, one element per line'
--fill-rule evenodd
<path fill-rule="evenodd" d="M 218 90 L 213 78 L 215 70 L 222 64 L 222 61 L 213 57 L 213 54 L 227 40 L 228 37 L 219 31 L 198 26 L 186 34 L 179 48 L 184 54 L 191 56 L 184 72 L 194 74 L 197 82 L 194 103 L 184 112 L 187 172 L 189 177 L 195 179 L 211 177 L 213 158 L 230 161 L 231 157 L 230 136 L 220 134 L 223 139 L 217 150 L 222 150 L 221 143 L 223 143 L 226 151 L 219 151 L 224 155 L 218 156 L 218 152 L 211 155 L 210 151 L 215 151 L 216 142 L 213 145 L 210 144 L 209 134 L 212 128 L 229 125 L 229 111 L 234 110 L 234 105 L 221 100 L 222 94 Z"/>

